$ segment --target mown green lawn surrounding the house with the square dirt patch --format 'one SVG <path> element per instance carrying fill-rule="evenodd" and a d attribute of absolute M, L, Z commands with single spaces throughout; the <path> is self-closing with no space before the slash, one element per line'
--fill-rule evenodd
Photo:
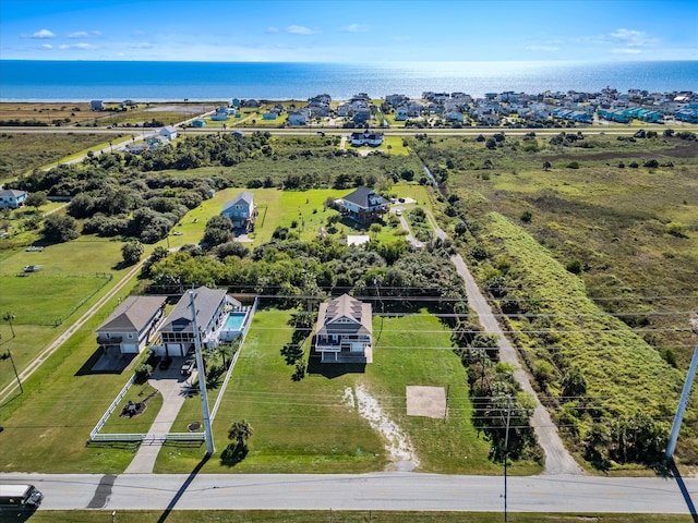
<path fill-rule="evenodd" d="M 214 424 L 216 453 L 203 472 L 369 472 L 390 466 L 384 449 L 387 441 L 369 427 L 356 406 L 363 390 L 407 435 L 419 471 L 500 472 L 501 465 L 488 460 L 489 442 L 472 426 L 466 370 L 450 350 L 449 332 L 436 318 L 426 314 L 374 317 L 374 360 L 365 372 L 342 365 L 321 368 L 311 362 L 308 374 L 298 381 L 292 379 L 293 365 L 280 353 L 292 336 L 288 318 L 284 311 L 257 312 Z M 303 345 L 304 358 L 309 344 L 310 339 Z M 446 418 L 408 416 L 408 385 L 448 390 Z M 209 392 L 209 402 L 217 393 L 217 388 Z M 225 463 L 220 452 L 228 442 L 227 428 L 241 418 L 254 428 L 249 453 L 239 463 Z M 185 401 L 172 430 L 185 430 L 197 419 L 201 403 L 194 396 Z M 166 446 L 156 470 L 189 471 L 198 463 L 202 451 L 198 445 Z M 535 472 L 540 467 L 533 463 L 512 466 L 513 474 Z"/>

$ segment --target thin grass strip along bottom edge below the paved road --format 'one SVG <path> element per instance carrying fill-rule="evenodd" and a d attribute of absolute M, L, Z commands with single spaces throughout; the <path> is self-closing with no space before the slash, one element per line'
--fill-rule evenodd
<path fill-rule="evenodd" d="M 31 518 L 32 523 L 103 523 L 111 514 L 105 510 L 39 510 Z M 405 512 L 405 511 L 279 511 L 279 510 L 173 510 L 168 511 L 164 520 L 163 511 L 120 510 L 119 523 L 167 523 L 225 522 L 225 523 L 495 523 L 502 521 L 502 513 L 494 512 Z M 679 523 L 689 521 L 686 515 L 663 514 L 550 514 L 509 512 L 507 521 L 512 523 Z M 12 521 L 22 522 L 23 519 Z M 29 521 L 29 520 L 27 520 Z"/>

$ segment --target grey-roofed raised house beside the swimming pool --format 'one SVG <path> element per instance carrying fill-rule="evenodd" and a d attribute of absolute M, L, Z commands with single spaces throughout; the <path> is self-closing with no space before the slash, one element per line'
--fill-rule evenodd
<path fill-rule="evenodd" d="M 163 323 L 158 332 L 161 345 L 154 348 L 156 353 L 166 356 L 184 356 L 194 346 L 194 329 L 190 293 L 194 295 L 196 327 L 202 349 L 216 349 L 219 335 L 228 317 L 228 312 L 240 308 L 241 304 L 225 290 L 200 287 L 185 292 Z"/>

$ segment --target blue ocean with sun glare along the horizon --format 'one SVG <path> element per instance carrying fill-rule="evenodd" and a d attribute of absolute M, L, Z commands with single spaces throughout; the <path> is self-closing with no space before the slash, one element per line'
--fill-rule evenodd
<path fill-rule="evenodd" d="M 306 99 L 327 93 L 348 99 L 425 90 L 481 97 L 598 92 L 613 87 L 650 93 L 698 90 L 698 61 L 662 62 L 135 62 L 0 60 L 0 101 L 262 98 Z"/>

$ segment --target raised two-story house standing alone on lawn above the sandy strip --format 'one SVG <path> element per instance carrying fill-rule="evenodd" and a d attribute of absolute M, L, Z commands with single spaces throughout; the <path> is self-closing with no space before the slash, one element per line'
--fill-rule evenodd
<path fill-rule="evenodd" d="M 322 363 L 371 363 L 372 311 L 349 294 L 321 303 L 315 329 L 315 352 Z"/>

